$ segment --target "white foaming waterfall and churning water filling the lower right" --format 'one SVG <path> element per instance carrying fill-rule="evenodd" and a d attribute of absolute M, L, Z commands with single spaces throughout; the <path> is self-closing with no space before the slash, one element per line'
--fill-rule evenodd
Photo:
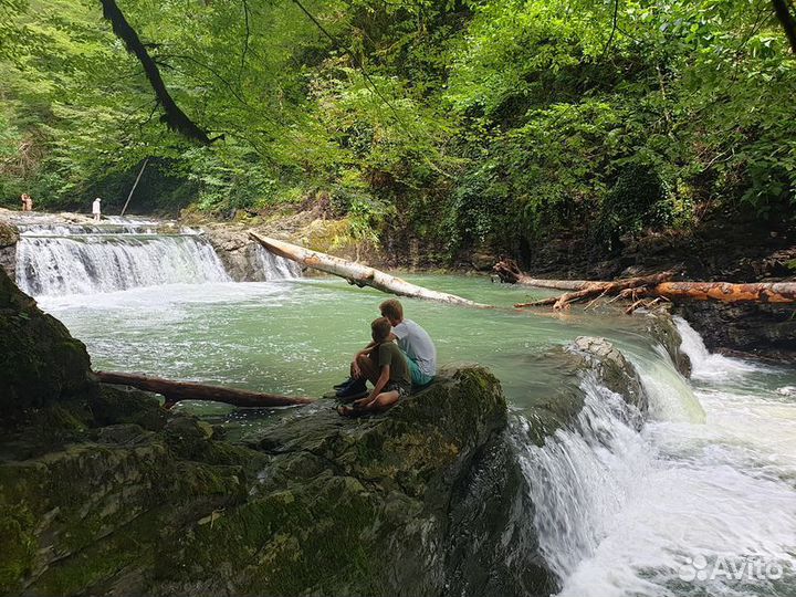
<path fill-rule="evenodd" d="M 678 325 L 698 375 L 704 363 L 713 380 L 758 370 L 714 358 L 685 322 Z M 633 360 L 646 387 L 663 386 L 652 379 L 660 377 L 652 359 Z M 796 405 L 742 400 L 727 415 L 739 396 L 727 388 L 716 396 L 713 386 L 712 394 L 696 391 L 705 422 L 651 419 L 639 432 L 639 413 L 620 396 L 589 376 L 582 390 L 576 421 L 544 447 L 527 440 L 522 418 L 512 429 L 540 549 L 561 595 L 788 594 L 796 579 L 796 465 L 786 446 L 796 439 Z M 667 396 L 649 394 L 654 411 Z M 769 408 L 785 421 L 755 412 Z M 782 455 L 772 461 L 772 453 Z"/>

